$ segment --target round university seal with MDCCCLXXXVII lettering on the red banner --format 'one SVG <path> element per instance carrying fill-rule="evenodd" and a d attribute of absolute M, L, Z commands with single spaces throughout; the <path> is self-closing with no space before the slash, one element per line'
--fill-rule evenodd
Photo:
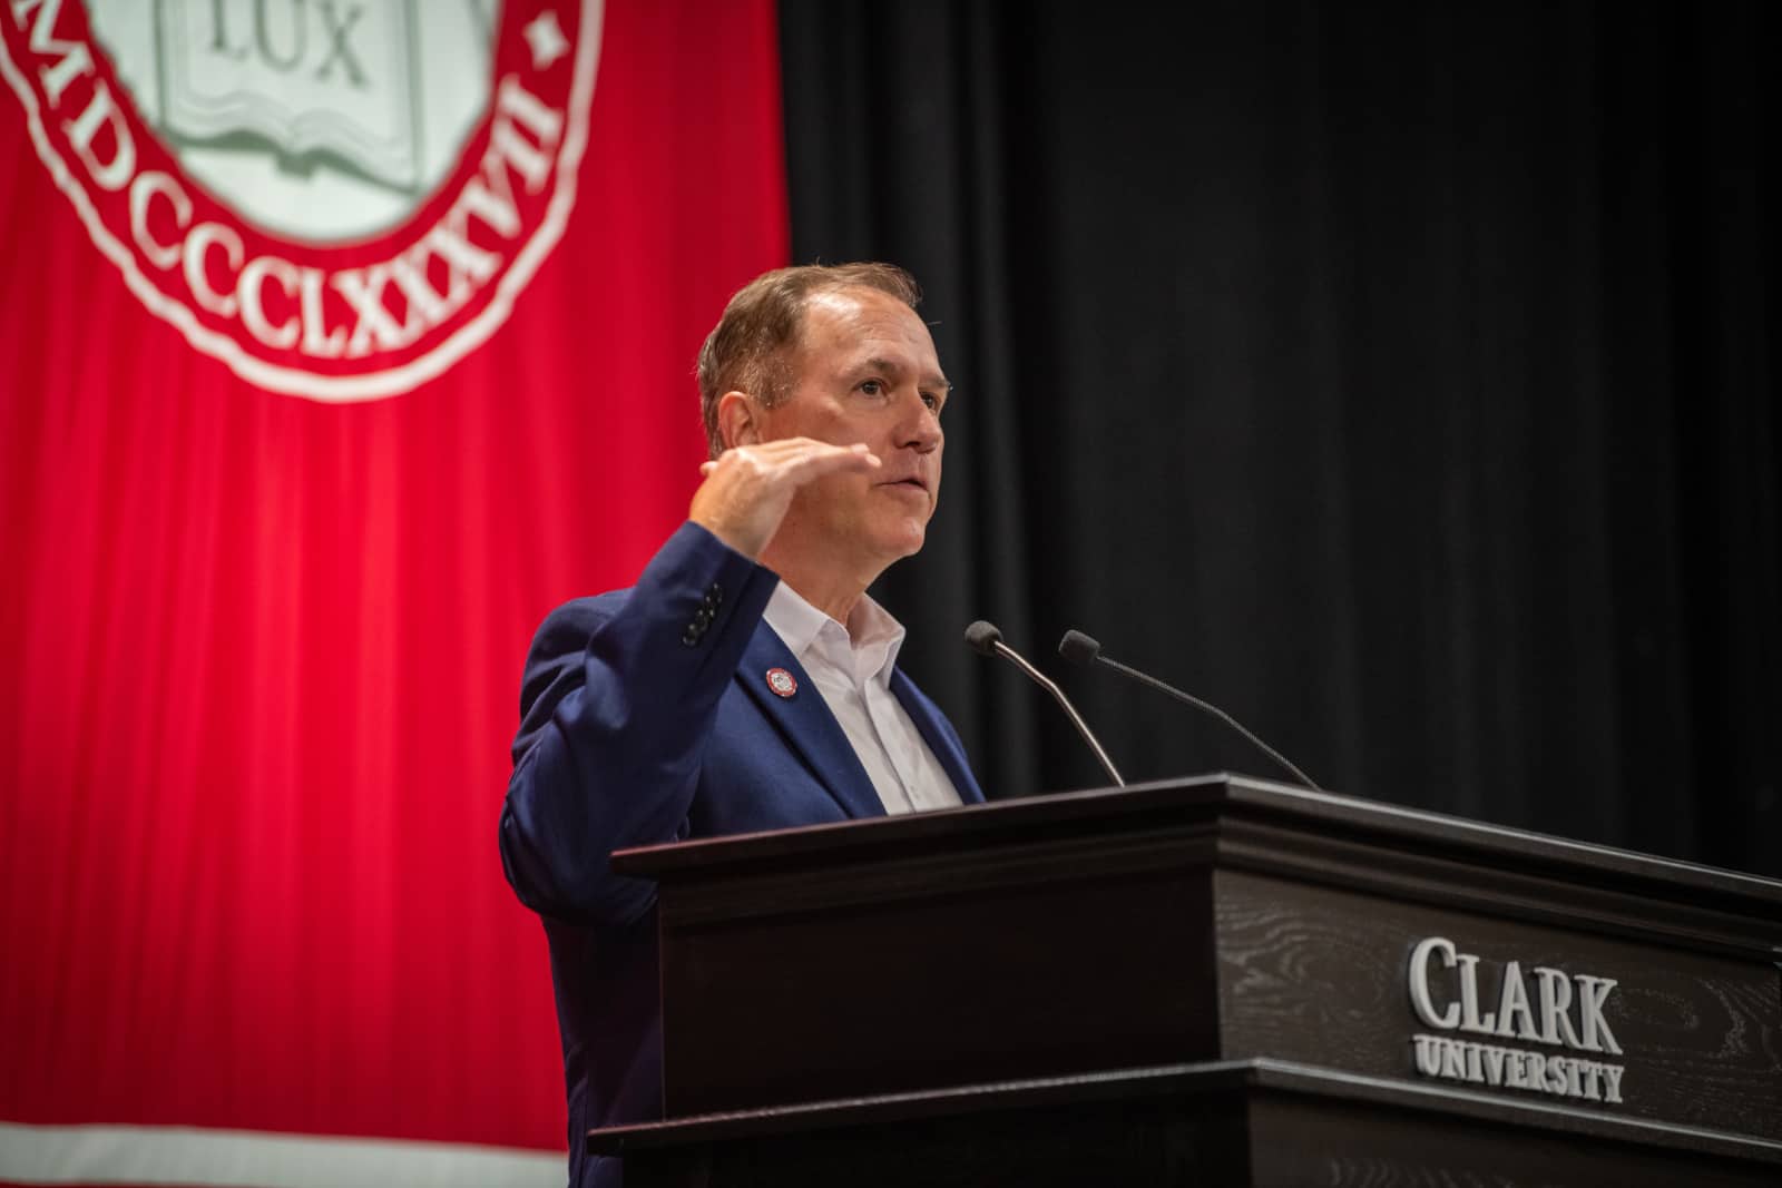
<path fill-rule="evenodd" d="M 273 392 L 438 376 L 576 201 L 601 0 L 7 0 L 0 27 L 94 246 Z"/>

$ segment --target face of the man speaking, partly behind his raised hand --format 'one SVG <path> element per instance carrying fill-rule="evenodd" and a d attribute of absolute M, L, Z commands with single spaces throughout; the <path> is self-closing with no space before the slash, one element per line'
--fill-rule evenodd
<path fill-rule="evenodd" d="M 789 358 L 791 395 L 764 410 L 763 438 L 864 442 L 882 467 L 836 474 L 802 488 L 775 549 L 859 572 L 866 581 L 921 549 L 941 493 L 941 406 L 946 376 L 928 328 L 877 289 L 807 299 Z"/>

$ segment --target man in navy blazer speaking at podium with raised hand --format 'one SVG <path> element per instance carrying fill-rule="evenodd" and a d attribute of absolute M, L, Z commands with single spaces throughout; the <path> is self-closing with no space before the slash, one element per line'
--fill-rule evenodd
<path fill-rule="evenodd" d="M 620 1183 L 590 1127 L 661 1113 L 656 887 L 609 851 L 984 800 L 866 595 L 941 490 L 948 383 L 918 301 L 886 264 L 741 289 L 699 356 L 711 461 L 686 524 L 526 659 L 501 860 L 551 942 L 579 1186 Z"/>

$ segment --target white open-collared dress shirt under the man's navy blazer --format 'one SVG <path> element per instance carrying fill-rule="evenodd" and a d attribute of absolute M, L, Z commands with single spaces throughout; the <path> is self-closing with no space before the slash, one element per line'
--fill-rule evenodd
<path fill-rule="evenodd" d="M 959 789 L 891 693 L 903 625 L 861 595 L 843 627 L 781 582 L 764 613 L 841 723 L 886 812 L 959 805 Z"/>

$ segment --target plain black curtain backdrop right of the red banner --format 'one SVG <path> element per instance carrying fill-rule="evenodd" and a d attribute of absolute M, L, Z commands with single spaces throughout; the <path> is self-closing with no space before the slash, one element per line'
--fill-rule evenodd
<path fill-rule="evenodd" d="M 1771 4 L 782 0 L 800 260 L 957 385 L 877 591 L 993 794 L 1278 775 L 1782 875 Z"/>

